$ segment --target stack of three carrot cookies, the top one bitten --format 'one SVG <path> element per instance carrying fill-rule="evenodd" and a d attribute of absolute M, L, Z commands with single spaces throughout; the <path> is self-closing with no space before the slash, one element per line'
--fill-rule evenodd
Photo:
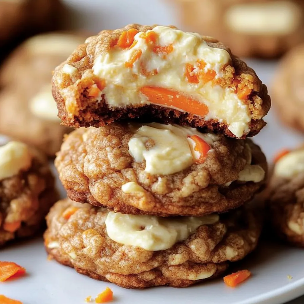
<path fill-rule="evenodd" d="M 267 164 L 247 136 L 270 98 L 223 44 L 172 26 L 105 30 L 55 69 L 53 96 L 77 129 L 55 160 L 68 198 L 47 216 L 51 257 L 126 288 L 185 287 L 256 247 L 249 201 Z"/>

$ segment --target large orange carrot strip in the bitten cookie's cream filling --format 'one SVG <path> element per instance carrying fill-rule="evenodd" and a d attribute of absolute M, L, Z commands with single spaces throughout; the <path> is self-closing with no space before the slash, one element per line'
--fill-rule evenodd
<path fill-rule="evenodd" d="M 142 87 L 140 92 L 154 104 L 173 106 L 202 117 L 206 116 L 209 112 L 205 104 L 182 92 L 160 87 Z"/>

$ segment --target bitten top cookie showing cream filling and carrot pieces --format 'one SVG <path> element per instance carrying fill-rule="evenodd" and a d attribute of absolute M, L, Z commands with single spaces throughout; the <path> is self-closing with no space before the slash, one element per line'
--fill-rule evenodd
<path fill-rule="evenodd" d="M 237 138 L 257 134 L 270 108 L 266 86 L 222 43 L 137 24 L 89 37 L 55 69 L 53 96 L 67 126 L 140 119 Z"/>

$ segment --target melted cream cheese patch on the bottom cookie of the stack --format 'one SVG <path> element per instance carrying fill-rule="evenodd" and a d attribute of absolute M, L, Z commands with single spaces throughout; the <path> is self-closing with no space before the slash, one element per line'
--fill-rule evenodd
<path fill-rule="evenodd" d="M 106 231 L 113 241 L 145 250 L 171 248 L 185 240 L 202 225 L 219 221 L 217 214 L 203 217 L 157 217 L 109 212 L 105 220 Z"/>

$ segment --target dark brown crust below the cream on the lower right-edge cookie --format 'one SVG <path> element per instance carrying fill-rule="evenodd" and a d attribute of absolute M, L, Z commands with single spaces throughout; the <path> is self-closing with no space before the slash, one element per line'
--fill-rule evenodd
<path fill-rule="evenodd" d="M 304 247 L 304 173 L 292 179 L 272 176 L 266 202 L 274 232 L 281 239 Z"/>

